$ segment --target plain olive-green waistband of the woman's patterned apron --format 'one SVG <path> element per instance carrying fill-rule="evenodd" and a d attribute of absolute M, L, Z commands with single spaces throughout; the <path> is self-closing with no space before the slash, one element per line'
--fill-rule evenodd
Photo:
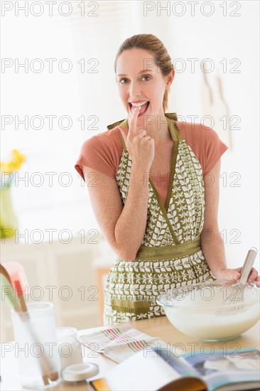
<path fill-rule="evenodd" d="M 136 254 L 136 259 L 147 261 L 170 259 L 192 255 L 200 250 L 200 236 L 197 236 L 195 239 L 174 246 L 160 246 L 158 248 L 141 246 Z"/>

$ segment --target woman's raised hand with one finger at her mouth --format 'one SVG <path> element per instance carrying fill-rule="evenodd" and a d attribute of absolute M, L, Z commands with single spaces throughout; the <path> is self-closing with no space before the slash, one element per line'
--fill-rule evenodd
<path fill-rule="evenodd" d="M 136 130 L 136 122 L 140 108 L 136 107 L 129 121 L 129 132 L 119 125 L 126 149 L 129 151 L 133 164 L 149 171 L 154 159 L 154 139 L 146 135 L 145 129 Z"/>

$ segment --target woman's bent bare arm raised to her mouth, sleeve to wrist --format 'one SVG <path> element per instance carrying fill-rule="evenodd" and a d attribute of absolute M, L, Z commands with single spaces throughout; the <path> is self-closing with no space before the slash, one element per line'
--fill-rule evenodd
<path fill-rule="evenodd" d="M 83 166 L 82 170 L 94 216 L 104 237 L 121 259 L 134 261 L 146 230 L 148 185 L 144 185 L 143 178 L 147 170 L 132 165 L 125 205 L 113 178 L 90 167 Z"/>

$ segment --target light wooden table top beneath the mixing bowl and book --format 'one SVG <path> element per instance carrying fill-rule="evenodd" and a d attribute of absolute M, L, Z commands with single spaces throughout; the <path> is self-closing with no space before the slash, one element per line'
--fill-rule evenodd
<path fill-rule="evenodd" d="M 144 321 L 136 321 L 127 323 L 132 327 L 138 329 L 139 331 L 143 331 L 143 333 L 147 333 L 150 336 L 158 336 L 162 338 L 164 341 L 170 343 L 173 347 L 178 349 L 183 349 L 183 353 L 190 352 L 192 349 L 200 350 L 200 348 L 214 348 L 214 349 L 238 349 L 237 353 L 239 353 L 240 348 L 258 348 L 259 349 L 259 335 L 260 335 L 260 323 L 256 323 L 254 327 L 252 327 L 246 333 L 243 333 L 242 336 L 238 338 L 234 338 L 229 341 L 222 342 L 205 342 L 198 341 L 195 338 L 191 338 L 189 336 L 185 336 L 185 334 L 180 333 L 176 328 L 174 328 L 166 316 L 161 316 L 160 318 L 148 319 Z M 114 325 L 116 326 L 116 325 Z M 118 325 L 117 325 L 118 326 Z M 121 326 L 121 325 L 120 325 Z M 102 330 L 106 327 L 97 327 L 97 328 L 89 328 L 87 330 L 80 331 L 81 334 L 92 333 L 93 331 Z M 1 344 L 2 346 L 4 343 Z M 97 377 L 102 377 L 107 370 L 114 368 L 117 363 L 109 358 L 106 358 L 104 355 L 100 353 L 93 353 L 92 350 L 88 348 L 84 348 L 85 362 L 97 363 L 99 365 L 99 375 Z M 96 355 L 97 357 L 94 357 Z M 18 360 L 14 357 L 13 351 L 10 353 L 6 353 L 3 358 L 3 354 L 1 354 L 1 390 L 23 390 L 21 387 L 21 382 L 19 381 L 18 375 Z M 60 391 L 83 391 L 83 390 L 92 390 L 90 385 L 87 383 L 80 385 L 70 385 L 67 382 L 60 382 L 59 385 L 55 387 L 50 387 L 47 390 L 60 390 Z"/>

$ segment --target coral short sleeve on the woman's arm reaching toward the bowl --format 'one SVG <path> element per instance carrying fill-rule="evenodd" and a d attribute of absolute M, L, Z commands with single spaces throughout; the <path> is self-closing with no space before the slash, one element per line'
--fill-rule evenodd
<path fill-rule="evenodd" d="M 210 172 L 217 164 L 222 154 L 227 151 L 228 146 L 221 141 L 217 132 L 210 127 L 205 129 L 205 155 L 204 155 L 204 172 Z"/>

